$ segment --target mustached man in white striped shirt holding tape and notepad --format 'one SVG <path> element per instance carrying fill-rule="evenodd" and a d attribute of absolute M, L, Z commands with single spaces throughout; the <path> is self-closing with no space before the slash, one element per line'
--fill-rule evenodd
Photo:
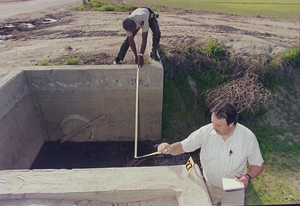
<path fill-rule="evenodd" d="M 264 163 L 257 139 L 237 123 L 237 111 L 230 103 L 218 103 L 211 112 L 212 123 L 181 142 L 160 144 L 158 153 L 178 155 L 201 148 L 200 161 L 212 205 L 243 205 L 244 188 L 225 191 L 222 178 L 236 179 L 246 188 L 262 172 Z M 246 173 L 247 161 L 250 168 Z"/>

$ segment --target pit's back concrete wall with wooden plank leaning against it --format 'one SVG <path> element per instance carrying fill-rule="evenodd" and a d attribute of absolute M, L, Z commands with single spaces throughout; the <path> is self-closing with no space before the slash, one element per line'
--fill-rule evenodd
<path fill-rule="evenodd" d="M 25 68 L 24 68 L 25 69 Z M 25 74 L 41 108 L 50 140 L 106 114 L 108 120 L 79 133 L 74 141 L 134 140 L 136 68 L 134 65 L 27 67 Z M 140 69 L 139 137 L 160 139 L 163 68 Z"/>

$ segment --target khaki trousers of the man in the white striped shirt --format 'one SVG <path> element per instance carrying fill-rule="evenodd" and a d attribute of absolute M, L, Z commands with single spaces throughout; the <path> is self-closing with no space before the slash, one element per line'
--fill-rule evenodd
<path fill-rule="evenodd" d="M 225 191 L 207 182 L 205 184 L 213 206 L 218 202 L 221 202 L 221 205 L 244 205 L 244 188 Z"/>

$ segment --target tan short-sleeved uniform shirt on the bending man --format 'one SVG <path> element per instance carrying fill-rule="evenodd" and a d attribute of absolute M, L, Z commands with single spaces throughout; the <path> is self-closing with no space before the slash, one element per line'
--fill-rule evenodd
<path fill-rule="evenodd" d="M 136 29 L 141 28 L 142 32 L 148 32 L 149 31 L 149 15 L 150 12 L 146 8 L 138 8 L 134 10 L 134 12 L 129 16 L 129 18 L 133 19 L 135 23 L 137 24 Z M 144 21 L 144 25 L 142 26 L 141 23 Z M 132 32 L 126 31 L 126 34 L 128 37 L 131 37 L 133 34 Z"/>

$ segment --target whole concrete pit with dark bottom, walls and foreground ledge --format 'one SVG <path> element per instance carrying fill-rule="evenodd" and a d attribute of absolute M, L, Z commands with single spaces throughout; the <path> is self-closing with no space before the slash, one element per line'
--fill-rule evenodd
<path fill-rule="evenodd" d="M 135 89 L 136 65 L 27 67 L 5 75 L 0 81 L 0 205 L 211 205 L 197 165 L 189 176 L 185 165 L 30 170 L 45 141 L 57 142 L 103 115 L 107 120 L 69 140 L 132 143 Z M 139 143 L 160 139 L 162 101 L 163 67 L 152 61 L 140 69 Z M 123 153 L 133 155 L 134 149 Z"/>

